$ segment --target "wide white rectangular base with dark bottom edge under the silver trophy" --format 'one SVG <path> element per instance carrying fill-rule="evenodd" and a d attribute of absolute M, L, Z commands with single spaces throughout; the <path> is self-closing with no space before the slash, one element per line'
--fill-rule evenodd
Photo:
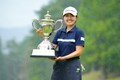
<path fill-rule="evenodd" d="M 33 49 L 31 57 L 55 58 L 56 56 L 54 50 Z"/>

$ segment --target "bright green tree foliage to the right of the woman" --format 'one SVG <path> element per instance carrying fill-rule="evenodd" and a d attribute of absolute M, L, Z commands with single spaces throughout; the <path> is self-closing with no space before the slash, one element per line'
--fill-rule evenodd
<path fill-rule="evenodd" d="M 119 0 L 81 0 L 79 22 L 86 34 L 83 61 L 89 69 L 102 69 L 104 79 L 119 74 Z"/>

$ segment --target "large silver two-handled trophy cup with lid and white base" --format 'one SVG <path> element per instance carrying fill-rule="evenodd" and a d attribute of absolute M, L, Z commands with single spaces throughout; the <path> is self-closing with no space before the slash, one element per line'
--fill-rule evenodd
<path fill-rule="evenodd" d="M 60 27 L 56 29 L 57 28 L 56 24 L 58 24 L 58 22 L 60 22 Z M 44 19 L 41 20 L 34 19 L 32 22 L 32 26 L 36 30 L 38 28 L 41 28 L 44 40 L 38 45 L 37 49 L 33 49 L 31 57 L 54 58 L 55 50 L 52 47 L 52 43 L 50 42 L 49 37 L 53 32 L 56 32 L 62 28 L 63 26 L 62 19 L 58 19 L 56 21 L 52 20 L 49 11 L 47 11 L 47 14 L 44 16 Z"/>

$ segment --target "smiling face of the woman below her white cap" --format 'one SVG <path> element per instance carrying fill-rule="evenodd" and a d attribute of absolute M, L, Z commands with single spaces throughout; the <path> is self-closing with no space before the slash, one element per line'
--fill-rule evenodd
<path fill-rule="evenodd" d="M 63 19 L 67 26 L 72 27 L 76 23 L 77 16 L 74 16 L 74 15 L 68 13 L 63 16 Z"/>

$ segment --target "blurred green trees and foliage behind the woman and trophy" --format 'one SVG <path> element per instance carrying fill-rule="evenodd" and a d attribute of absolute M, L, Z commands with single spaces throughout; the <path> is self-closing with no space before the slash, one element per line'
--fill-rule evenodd
<path fill-rule="evenodd" d="M 35 12 L 42 19 L 49 10 L 52 19 L 57 20 L 62 18 L 65 7 L 78 10 L 77 26 L 85 33 L 83 80 L 120 80 L 116 78 L 120 76 L 119 3 L 120 0 L 51 0 Z M 54 61 L 30 57 L 32 49 L 42 41 L 34 30 L 31 34 L 19 44 L 10 40 L 8 55 L 4 55 L 0 41 L 0 80 L 50 80 Z"/>

